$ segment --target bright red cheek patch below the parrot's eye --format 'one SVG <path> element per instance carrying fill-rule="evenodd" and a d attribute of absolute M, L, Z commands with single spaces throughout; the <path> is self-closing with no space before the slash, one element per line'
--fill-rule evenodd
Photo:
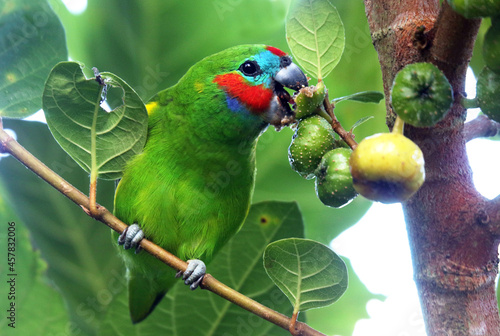
<path fill-rule="evenodd" d="M 250 85 L 241 75 L 228 73 L 218 75 L 213 80 L 219 84 L 232 97 L 247 106 L 255 114 L 260 114 L 269 109 L 273 91 L 264 85 Z"/>

